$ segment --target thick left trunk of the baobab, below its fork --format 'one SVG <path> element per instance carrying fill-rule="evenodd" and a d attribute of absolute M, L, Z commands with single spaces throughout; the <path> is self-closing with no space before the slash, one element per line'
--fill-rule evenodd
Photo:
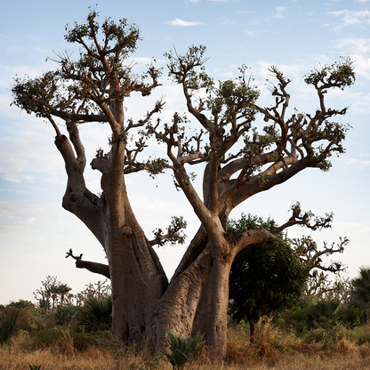
<path fill-rule="evenodd" d="M 152 315 L 168 285 L 165 271 L 125 199 L 125 224 L 106 224 L 106 251 L 112 284 L 112 335 L 141 344 L 152 335 Z M 107 211 L 109 213 L 109 210 Z M 107 214 L 106 220 L 111 220 Z"/>

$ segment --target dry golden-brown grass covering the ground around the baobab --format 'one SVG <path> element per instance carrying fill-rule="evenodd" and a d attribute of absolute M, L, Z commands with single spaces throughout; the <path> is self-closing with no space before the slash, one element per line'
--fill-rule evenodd
<path fill-rule="evenodd" d="M 68 330 L 60 331 L 55 339 L 46 335 L 49 342 L 26 332 L 17 334 L 11 346 L 0 348 L 0 369 L 41 370 L 107 369 L 107 370 L 172 370 L 172 366 L 159 356 L 147 356 L 139 350 L 112 345 L 107 341 L 81 345 L 78 337 Z M 75 339 L 74 339 L 75 338 Z M 104 339 L 104 338 L 102 338 Z M 269 319 L 261 320 L 256 327 L 256 342 L 251 344 L 245 329 L 229 328 L 227 356 L 222 364 L 214 365 L 204 353 L 192 365 L 195 370 L 341 370 L 370 368 L 370 327 L 334 331 L 316 331 L 300 338 L 282 334 L 271 326 Z M 36 367 L 34 367 L 36 368 Z"/>

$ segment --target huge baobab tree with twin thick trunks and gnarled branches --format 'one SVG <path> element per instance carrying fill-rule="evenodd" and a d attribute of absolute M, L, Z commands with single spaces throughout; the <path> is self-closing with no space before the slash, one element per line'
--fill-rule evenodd
<path fill-rule="evenodd" d="M 100 27 L 97 16 L 92 11 L 85 24 L 67 28 L 65 39 L 80 47 L 76 60 L 61 53 L 59 68 L 37 78 L 16 78 L 12 86 L 13 103 L 54 128 L 68 176 L 62 206 L 97 237 L 108 265 L 84 261 L 72 251 L 68 256 L 76 259 L 77 268 L 110 278 L 115 338 L 165 350 L 170 329 L 186 336 L 205 333 L 210 355 L 221 358 L 226 349 L 229 269 L 235 255 L 246 245 L 274 240 L 294 224 L 318 229 L 332 221 L 330 214 L 315 218 L 294 205 L 285 224 L 232 236 L 229 213 L 306 168 L 326 171 L 329 158 L 343 152 L 347 126 L 334 122 L 334 117 L 347 109 L 326 109 L 324 98 L 330 89 L 354 83 L 351 61 L 311 71 L 305 81 L 316 89 L 319 108 L 312 115 L 288 116 L 290 81 L 277 67 L 270 68 L 277 81 L 271 85 L 274 102 L 265 108 L 258 105 L 259 90 L 251 85 L 245 67 L 236 80 L 215 83 L 205 72 L 204 46 L 191 46 L 184 55 L 167 52 L 169 76 L 181 86 L 189 117 L 200 127 L 194 132 L 188 118 L 177 112 L 171 122 L 162 122 L 163 100 L 138 121 L 125 117 L 130 95 L 141 93 L 144 103 L 144 97 L 160 85 L 161 69 L 149 65 L 142 76 L 134 75 L 125 60 L 136 49 L 139 29 L 126 20 L 110 19 Z M 253 127 L 257 117 L 265 122 L 261 133 Z M 65 124 L 68 137 L 59 122 Z M 84 181 L 87 160 L 79 126 L 92 122 L 106 123 L 111 131 L 109 152 L 98 150 L 91 162 L 101 173 L 100 195 Z M 133 140 L 133 133 L 139 133 L 139 139 Z M 141 159 L 150 137 L 165 146 L 166 157 Z M 189 172 L 199 164 L 204 168 L 203 196 L 197 194 Z M 153 245 L 181 238 L 184 221 L 174 218 L 167 232 L 157 229 L 149 240 L 125 187 L 126 176 L 140 171 L 172 172 L 174 186 L 201 221 L 171 281 Z"/>

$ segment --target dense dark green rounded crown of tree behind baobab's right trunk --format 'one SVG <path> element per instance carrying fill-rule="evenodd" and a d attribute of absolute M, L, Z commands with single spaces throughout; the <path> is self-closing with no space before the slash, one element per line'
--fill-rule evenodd
<path fill-rule="evenodd" d="M 251 215 L 229 221 L 233 234 L 248 229 L 269 229 L 270 221 Z M 229 313 L 239 321 L 257 320 L 292 307 L 304 289 L 308 267 L 294 257 L 288 241 L 277 237 L 272 244 L 248 245 L 237 254 L 230 271 Z"/>

